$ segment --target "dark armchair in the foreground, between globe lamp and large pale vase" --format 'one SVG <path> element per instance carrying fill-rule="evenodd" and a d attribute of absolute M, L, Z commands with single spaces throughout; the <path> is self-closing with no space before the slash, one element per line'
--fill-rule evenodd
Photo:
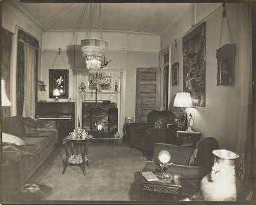
<path fill-rule="evenodd" d="M 166 169 L 166 173 L 180 174 L 182 181 L 185 181 L 186 184 L 189 183 L 190 188 L 193 186 L 199 188 L 202 178 L 210 173 L 214 165 L 212 153 L 214 149 L 220 149 L 215 138 L 204 138 L 196 149 L 171 144 L 155 144 L 153 161 L 147 161 L 144 171 L 159 172 L 159 152 L 167 150 L 170 152 L 170 161 L 173 164 Z M 188 188 L 184 192 L 192 194 Z"/>

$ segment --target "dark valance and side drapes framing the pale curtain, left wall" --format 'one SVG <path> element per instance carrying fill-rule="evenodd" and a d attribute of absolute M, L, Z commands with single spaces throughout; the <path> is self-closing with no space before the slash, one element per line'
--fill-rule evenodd
<path fill-rule="evenodd" d="M 23 104 L 24 104 L 24 83 L 25 83 L 25 54 L 24 54 L 24 42 L 34 48 L 39 48 L 39 42 L 23 30 L 18 31 L 18 50 L 17 50 L 17 115 L 22 116 Z M 36 63 L 34 67 L 34 79 L 35 79 L 35 101 L 37 102 L 37 69 L 38 69 L 38 50 L 36 50 Z M 31 93 L 32 94 L 32 93 Z"/>

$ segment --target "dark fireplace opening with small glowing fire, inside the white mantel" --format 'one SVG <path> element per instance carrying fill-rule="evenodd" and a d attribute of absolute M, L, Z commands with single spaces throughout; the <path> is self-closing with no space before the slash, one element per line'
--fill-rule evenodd
<path fill-rule="evenodd" d="M 118 110 L 114 102 L 83 102 L 82 127 L 94 138 L 115 138 Z"/>

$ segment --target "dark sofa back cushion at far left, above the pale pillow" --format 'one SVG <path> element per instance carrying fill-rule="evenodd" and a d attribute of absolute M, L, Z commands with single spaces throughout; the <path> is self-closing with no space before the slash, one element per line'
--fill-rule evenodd
<path fill-rule="evenodd" d="M 13 134 L 15 136 L 23 136 L 25 134 L 25 127 L 23 124 L 23 116 L 12 116 L 3 118 L 2 129 L 3 132 Z"/>

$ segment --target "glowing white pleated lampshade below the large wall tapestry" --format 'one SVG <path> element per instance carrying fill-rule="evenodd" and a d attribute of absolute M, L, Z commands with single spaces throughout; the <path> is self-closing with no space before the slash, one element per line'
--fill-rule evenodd
<path fill-rule="evenodd" d="M 178 108 L 190 108 L 193 106 L 192 98 L 188 92 L 176 93 L 173 106 Z"/>

